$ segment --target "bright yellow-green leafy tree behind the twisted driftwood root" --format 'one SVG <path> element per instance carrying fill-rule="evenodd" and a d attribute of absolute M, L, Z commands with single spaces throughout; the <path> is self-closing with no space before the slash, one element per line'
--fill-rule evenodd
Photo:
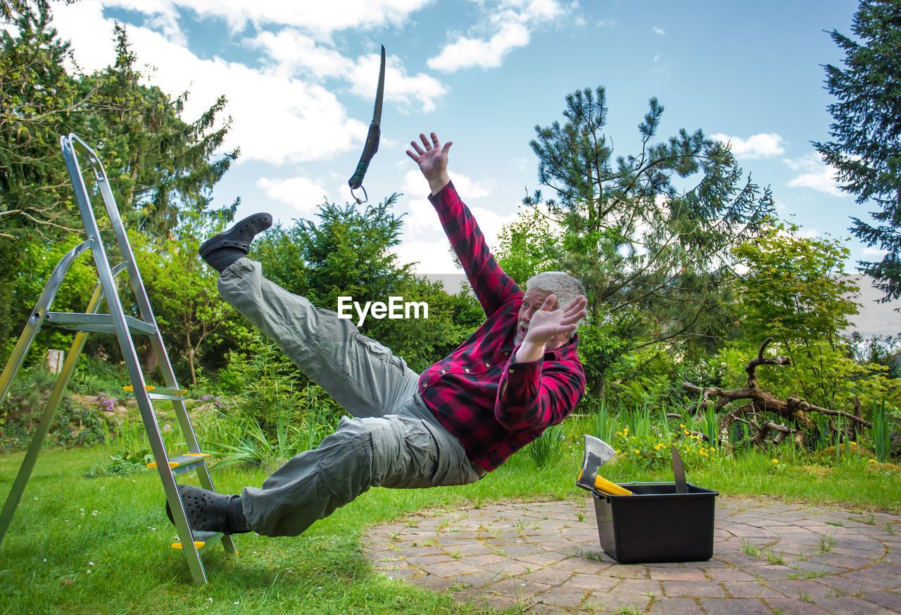
<path fill-rule="evenodd" d="M 744 380 L 748 357 L 771 336 L 791 366 L 760 372 L 764 389 L 836 409 L 851 408 L 859 395 L 867 408 L 897 387 L 884 367 L 855 363 L 840 335 L 859 308 L 860 287 L 843 269 L 849 251 L 837 240 L 799 237 L 798 230 L 772 226 L 735 249 L 747 272 L 736 281 L 733 305 L 743 340 L 724 354 L 734 383 Z"/>

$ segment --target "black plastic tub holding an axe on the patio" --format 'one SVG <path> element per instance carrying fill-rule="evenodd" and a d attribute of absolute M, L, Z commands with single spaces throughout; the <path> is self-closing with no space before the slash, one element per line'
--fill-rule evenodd
<path fill-rule="evenodd" d="M 623 482 L 633 495 L 595 495 L 601 547 L 621 564 L 701 562 L 714 555 L 718 493 L 688 483 Z"/>

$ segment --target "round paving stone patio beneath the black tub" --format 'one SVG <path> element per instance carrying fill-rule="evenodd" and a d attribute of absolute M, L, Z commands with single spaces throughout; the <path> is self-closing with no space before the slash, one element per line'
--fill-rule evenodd
<path fill-rule="evenodd" d="M 591 497 L 414 514 L 372 528 L 373 564 L 458 601 L 535 613 L 901 613 L 901 517 L 716 500 L 706 562 L 618 564 Z"/>

